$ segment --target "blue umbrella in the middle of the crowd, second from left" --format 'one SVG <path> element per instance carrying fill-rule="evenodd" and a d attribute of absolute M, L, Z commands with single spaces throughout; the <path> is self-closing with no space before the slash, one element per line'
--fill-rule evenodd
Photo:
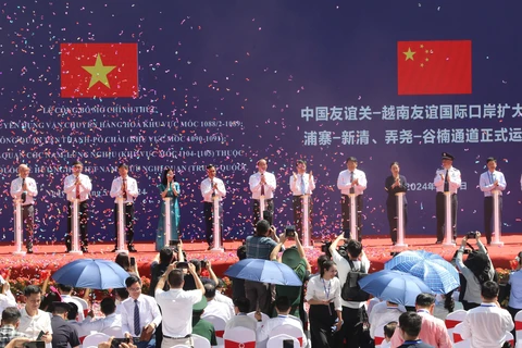
<path fill-rule="evenodd" d="M 245 259 L 228 268 L 225 275 L 239 279 L 277 285 L 301 286 L 293 269 L 277 261 Z"/>

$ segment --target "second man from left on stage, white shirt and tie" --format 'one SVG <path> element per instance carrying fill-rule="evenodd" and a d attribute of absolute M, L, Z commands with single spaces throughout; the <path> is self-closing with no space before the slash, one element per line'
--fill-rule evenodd
<path fill-rule="evenodd" d="M 63 182 L 63 191 L 67 195 L 67 235 L 65 236 L 65 247 L 71 251 L 72 219 L 78 219 L 78 227 L 82 240 L 82 251 L 88 252 L 87 226 L 89 223 L 89 195 L 92 190 L 90 178 L 82 174 L 84 165 L 79 161 L 73 162 L 73 173 L 65 177 Z M 78 200 L 78 216 L 73 216 L 73 202 Z"/>

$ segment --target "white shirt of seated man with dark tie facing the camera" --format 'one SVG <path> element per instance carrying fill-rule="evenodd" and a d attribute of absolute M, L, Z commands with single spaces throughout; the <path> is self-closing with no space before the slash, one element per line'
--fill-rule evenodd
<path fill-rule="evenodd" d="M 129 333 L 133 337 L 139 337 L 134 332 L 134 298 L 129 297 L 122 302 L 122 331 L 123 334 Z M 153 323 L 156 327 L 161 323 L 161 312 L 153 297 L 139 295 L 138 297 L 139 327 L 145 327 Z M 165 312 L 169 313 L 169 312 Z M 172 313 L 172 312 L 171 312 Z M 163 331 L 164 332 L 164 331 Z"/>

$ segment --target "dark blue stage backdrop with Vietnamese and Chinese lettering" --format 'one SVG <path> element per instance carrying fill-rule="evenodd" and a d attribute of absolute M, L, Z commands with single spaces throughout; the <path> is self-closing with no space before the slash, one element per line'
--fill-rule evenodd
<path fill-rule="evenodd" d="M 411 183 L 408 233 L 434 236 L 430 183 L 442 151 L 456 157 L 465 183 L 460 233 L 483 227 L 477 185 L 489 156 L 508 182 L 504 231 L 520 232 L 521 11 L 515 1 L 483 0 L 9 0 L 0 22 L 1 238 L 13 239 L 9 185 L 20 163 L 39 186 L 37 237 L 63 238 L 61 190 L 75 159 L 94 183 L 91 239 L 114 235 L 108 195 L 122 161 L 140 187 L 137 239 L 156 235 L 166 165 L 182 185 L 182 233 L 202 238 L 199 183 L 209 163 L 228 189 L 224 236 L 244 238 L 260 158 L 277 177 L 278 225 L 291 221 L 293 163 L 308 160 L 322 237 L 339 232 L 336 179 L 348 156 L 369 181 L 364 234 L 388 234 L 384 179 L 397 160 Z M 472 94 L 399 96 L 397 42 L 410 40 L 471 40 Z M 139 97 L 61 98 L 60 44 L 76 42 L 137 44 Z"/>

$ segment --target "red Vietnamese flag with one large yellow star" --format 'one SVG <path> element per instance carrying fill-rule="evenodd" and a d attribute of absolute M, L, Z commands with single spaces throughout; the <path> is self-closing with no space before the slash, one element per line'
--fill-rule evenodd
<path fill-rule="evenodd" d="M 62 98 L 138 96 L 137 44 L 61 44 Z"/>

